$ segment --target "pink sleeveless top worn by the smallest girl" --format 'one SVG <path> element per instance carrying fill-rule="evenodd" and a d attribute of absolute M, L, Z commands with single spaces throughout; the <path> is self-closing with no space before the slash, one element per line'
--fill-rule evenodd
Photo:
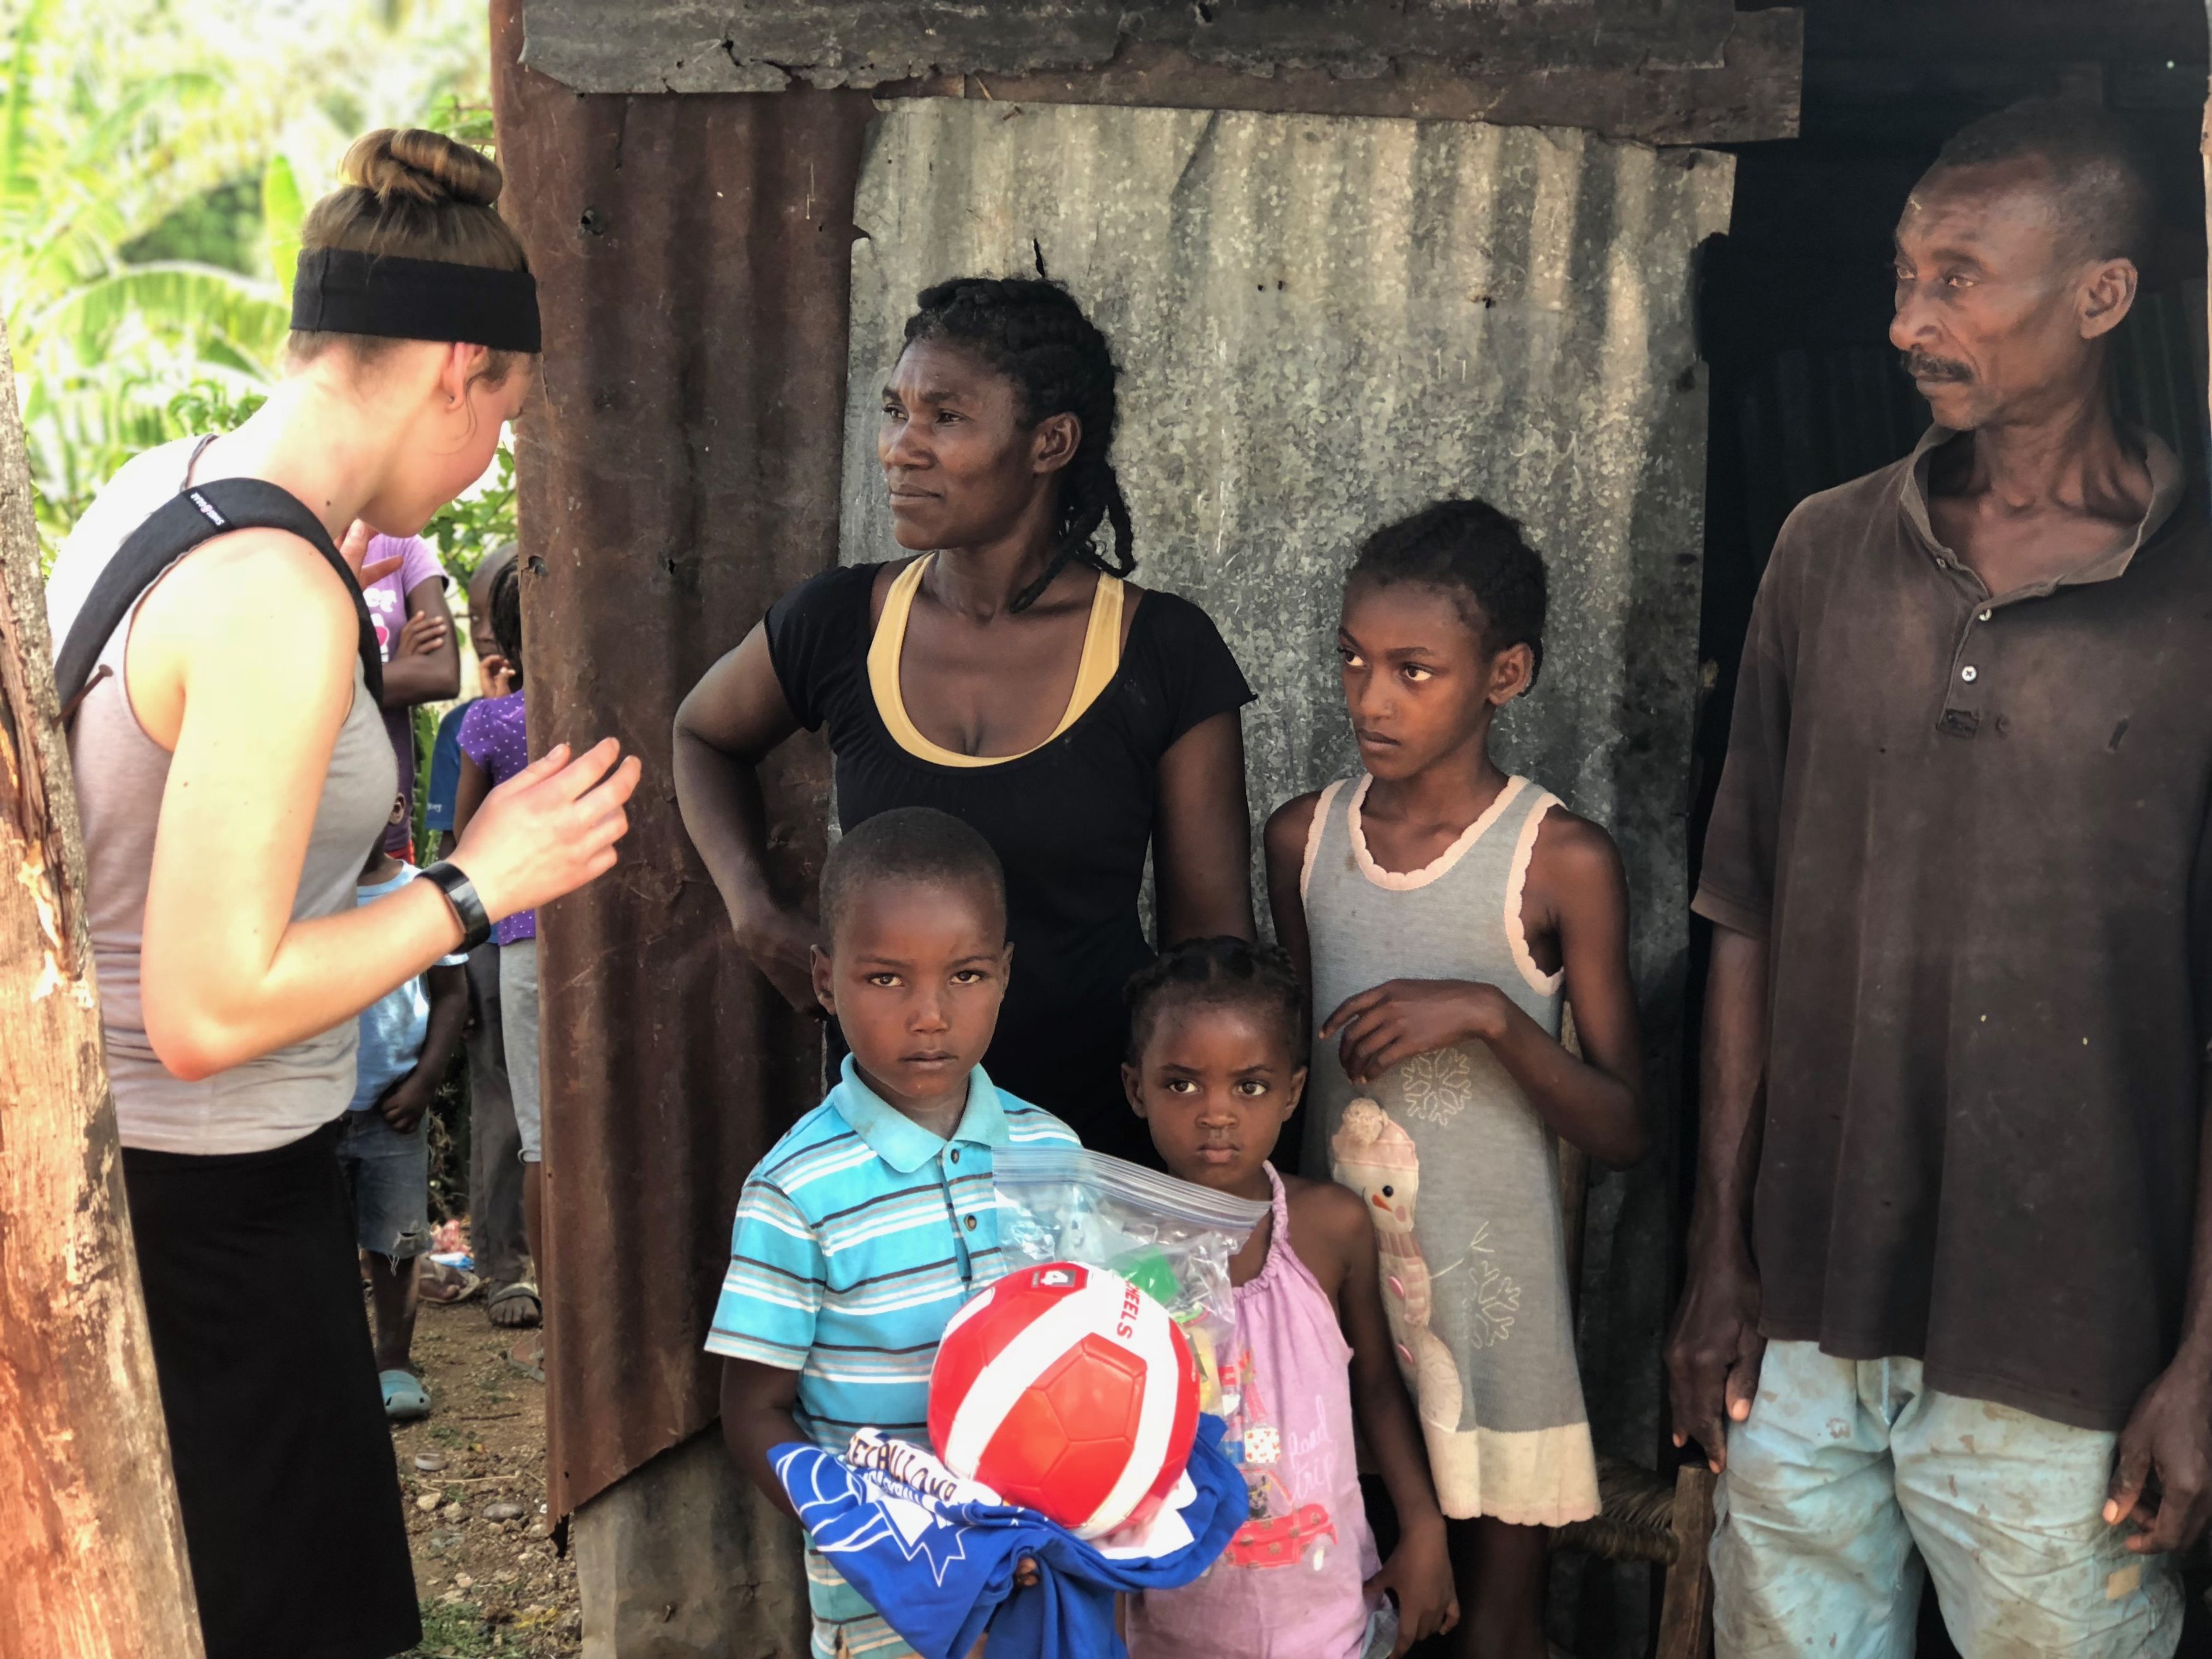
<path fill-rule="evenodd" d="M 1272 1164 L 1267 1186 L 1267 1261 L 1237 1287 L 1243 1405 L 1221 1440 L 1243 1467 L 1252 1520 L 1197 1584 L 1130 1599 L 1137 1659 L 1358 1659 L 1367 1639 L 1360 1586 L 1380 1562 L 1352 1453 L 1352 1345 L 1290 1248 Z"/>

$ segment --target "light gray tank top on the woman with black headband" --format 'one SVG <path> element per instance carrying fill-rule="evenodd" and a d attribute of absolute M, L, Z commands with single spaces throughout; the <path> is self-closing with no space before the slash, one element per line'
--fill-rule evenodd
<path fill-rule="evenodd" d="M 122 540 L 186 480 L 195 440 L 164 445 L 124 467 L 100 493 L 55 560 L 49 619 L 55 646 L 77 604 Z M 192 555 L 186 555 L 192 557 Z M 168 785 L 168 750 L 139 726 L 124 686 L 126 619 L 100 653 L 100 677 L 77 708 L 69 759 L 84 821 L 86 909 L 100 975 L 100 1029 L 122 1144 L 157 1152 L 261 1152 L 327 1124 L 354 1095 L 358 1020 L 215 1077 L 175 1077 L 146 1042 L 139 940 L 153 876 L 155 827 Z M 307 836 L 292 920 L 336 916 L 356 898 L 361 865 L 392 818 L 398 779 L 383 714 L 354 661 L 354 706 L 338 728 L 330 774 Z"/>

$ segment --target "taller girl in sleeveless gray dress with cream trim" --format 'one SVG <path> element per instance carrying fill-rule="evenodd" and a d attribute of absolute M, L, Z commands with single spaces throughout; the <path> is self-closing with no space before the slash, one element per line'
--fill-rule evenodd
<path fill-rule="evenodd" d="M 1367 1197 L 1460 1652 L 1484 1659 L 1542 1659 L 1544 1528 L 1597 1513 L 1557 1144 L 1646 1144 L 1619 854 L 1491 761 L 1542 650 L 1544 562 L 1511 518 L 1438 502 L 1378 531 L 1338 628 L 1365 774 L 1267 823 L 1316 1015 L 1307 1170 Z M 1566 1002 L 1586 1060 L 1559 1046 Z"/>

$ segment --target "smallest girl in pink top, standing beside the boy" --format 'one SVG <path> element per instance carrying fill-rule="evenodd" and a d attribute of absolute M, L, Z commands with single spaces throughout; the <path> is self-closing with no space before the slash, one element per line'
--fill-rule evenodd
<path fill-rule="evenodd" d="M 1177 945 L 1128 987 L 1130 1106 L 1168 1170 L 1270 1199 L 1230 1263 L 1241 1407 L 1221 1449 L 1252 1520 L 1197 1584 L 1128 1604 L 1133 1659 L 1365 1659 L 1458 1619 L 1444 1517 L 1391 1354 L 1367 1206 L 1334 1181 L 1276 1175 L 1267 1155 L 1305 1088 L 1305 993 L 1290 960 L 1239 938 Z M 1354 1405 L 1358 1402 L 1358 1405 Z M 1378 1562 L 1354 1422 L 1398 1509 Z M 1385 1615 L 1398 1604 L 1398 1632 Z"/>

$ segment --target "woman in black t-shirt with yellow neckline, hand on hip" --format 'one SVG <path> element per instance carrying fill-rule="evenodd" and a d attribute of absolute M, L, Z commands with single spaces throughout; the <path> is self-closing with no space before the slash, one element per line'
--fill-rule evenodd
<path fill-rule="evenodd" d="M 1119 1077 L 1146 852 L 1164 940 L 1252 938 L 1252 690 L 1203 611 L 1124 580 L 1115 374 L 1055 283 L 925 290 L 876 453 L 898 544 L 929 551 L 785 593 L 684 699 L 675 779 L 739 940 L 805 1011 L 821 929 L 770 891 L 761 759 L 827 726 L 843 827 L 905 805 L 975 825 L 1013 940 L 993 1082 L 1150 1159 Z"/>

